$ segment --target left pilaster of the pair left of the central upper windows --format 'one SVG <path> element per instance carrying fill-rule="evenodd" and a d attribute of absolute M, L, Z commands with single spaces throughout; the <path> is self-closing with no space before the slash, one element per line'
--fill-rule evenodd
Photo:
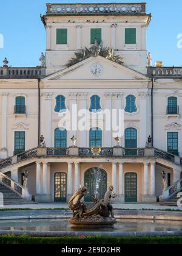
<path fill-rule="evenodd" d="M 68 138 L 72 138 L 73 135 L 77 137 L 77 127 L 78 127 L 78 107 L 77 107 L 77 93 L 69 93 L 69 110 L 70 110 L 70 124 L 71 129 L 68 131 Z M 77 138 L 79 140 L 79 138 Z M 68 146 L 72 146 L 72 141 L 67 141 Z"/>

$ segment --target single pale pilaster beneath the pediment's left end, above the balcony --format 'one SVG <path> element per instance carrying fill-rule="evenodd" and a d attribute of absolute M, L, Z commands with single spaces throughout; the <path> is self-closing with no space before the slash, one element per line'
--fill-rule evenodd
<path fill-rule="evenodd" d="M 52 93 L 42 93 L 44 97 L 42 106 L 42 127 L 41 133 L 44 135 L 45 144 L 47 147 L 52 145 Z"/>

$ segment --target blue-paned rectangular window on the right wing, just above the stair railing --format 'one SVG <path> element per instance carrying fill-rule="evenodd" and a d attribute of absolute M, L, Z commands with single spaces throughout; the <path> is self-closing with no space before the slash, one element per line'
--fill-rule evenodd
<path fill-rule="evenodd" d="M 178 132 L 167 132 L 167 152 L 178 155 Z"/>

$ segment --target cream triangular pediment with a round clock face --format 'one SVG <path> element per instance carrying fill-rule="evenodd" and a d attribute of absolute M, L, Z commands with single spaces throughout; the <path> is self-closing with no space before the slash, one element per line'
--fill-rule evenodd
<path fill-rule="evenodd" d="M 93 74 L 95 65 L 99 74 Z M 96 71 L 98 72 L 98 71 Z M 57 71 L 43 79 L 46 80 L 149 80 L 143 74 L 137 73 L 126 66 L 112 62 L 101 56 L 90 57 L 69 68 Z"/>

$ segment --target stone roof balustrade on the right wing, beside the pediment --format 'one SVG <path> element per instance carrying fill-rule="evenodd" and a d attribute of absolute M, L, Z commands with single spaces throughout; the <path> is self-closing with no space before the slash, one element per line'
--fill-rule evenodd
<path fill-rule="evenodd" d="M 148 75 L 157 78 L 182 78 L 182 67 L 149 67 Z"/>

